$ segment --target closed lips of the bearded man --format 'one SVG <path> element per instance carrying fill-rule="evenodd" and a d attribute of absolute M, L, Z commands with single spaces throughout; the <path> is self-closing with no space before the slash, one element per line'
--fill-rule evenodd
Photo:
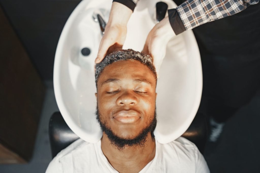
<path fill-rule="evenodd" d="M 120 123 L 134 123 L 141 117 L 135 110 L 122 110 L 114 114 L 113 118 Z"/>

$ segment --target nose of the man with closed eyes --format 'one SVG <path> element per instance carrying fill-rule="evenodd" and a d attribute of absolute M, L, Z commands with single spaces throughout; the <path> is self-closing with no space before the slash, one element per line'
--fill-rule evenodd
<path fill-rule="evenodd" d="M 126 106 L 126 105 L 136 105 L 138 103 L 138 99 L 134 96 L 134 94 L 126 91 L 120 95 L 117 100 L 116 104 L 119 106 Z"/>

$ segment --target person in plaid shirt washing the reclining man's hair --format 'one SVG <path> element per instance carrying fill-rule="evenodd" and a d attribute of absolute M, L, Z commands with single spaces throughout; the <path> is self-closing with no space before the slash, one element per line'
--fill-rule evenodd
<path fill-rule="evenodd" d="M 107 52 L 122 48 L 138 1 L 113 0 L 95 63 Z M 184 0 L 175 2 L 180 1 Z M 206 108 L 202 111 L 210 117 L 210 142 L 217 141 L 224 122 L 260 88 L 259 21 L 259 0 L 187 0 L 168 10 L 168 16 L 147 36 L 142 52 L 153 57 L 159 73 L 167 42 L 193 29 L 202 60 L 202 105 Z"/>

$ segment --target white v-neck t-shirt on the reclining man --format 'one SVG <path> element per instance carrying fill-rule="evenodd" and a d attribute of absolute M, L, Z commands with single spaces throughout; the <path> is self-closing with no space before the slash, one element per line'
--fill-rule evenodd
<path fill-rule="evenodd" d="M 167 144 L 155 138 L 155 156 L 140 173 L 144 172 L 210 172 L 207 163 L 195 144 L 179 137 Z M 50 162 L 46 173 L 118 172 L 101 150 L 101 141 L 88 143 L 82 139 L 59 152 Z"/>

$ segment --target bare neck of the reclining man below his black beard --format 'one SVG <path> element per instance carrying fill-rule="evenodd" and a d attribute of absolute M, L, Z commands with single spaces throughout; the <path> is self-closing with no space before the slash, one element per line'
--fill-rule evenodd
<path fill-rule="evenodd" d="M 151 133 L 147 136 L 144 147 L 125 146 L 122 150 L 110 144 L 105 133 L 101 138 L 101 149 L 109 163 L 118 172 L 139 172 L 155 156 L 155 139 Z"/>

